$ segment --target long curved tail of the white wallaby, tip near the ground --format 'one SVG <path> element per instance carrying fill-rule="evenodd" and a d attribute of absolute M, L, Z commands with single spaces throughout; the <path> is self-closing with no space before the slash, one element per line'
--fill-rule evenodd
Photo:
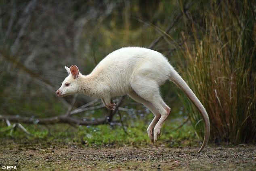
<path fill-rule="evenodd" d="M 197 96 L 195 96 L 194 92 L 189 88 L 187 83 L 180 77 L 180 75 L 173 69 L 169 78 L 171 81 L 173 81 L 178 87 L 187 95 L 187 97 L 191 100 L 191 102 L 195 105 L 195 107 L 200 112 L 203 120 L 204 120 L 204 142 L 201 146 L 201 148 L 197 151 L 198 153 L 201 152 L 204 147 L 206 146 L 209 136 L 210 136 L 210 121 L 208 114 Z"/>

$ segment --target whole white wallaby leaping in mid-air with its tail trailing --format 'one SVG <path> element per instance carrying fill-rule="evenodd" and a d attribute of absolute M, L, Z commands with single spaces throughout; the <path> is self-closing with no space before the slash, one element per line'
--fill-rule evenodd
<path fill-rule="evenodd" d="M 205 136 L 198 152 L 206 146 L 210 134 L 208 114 L 187 83 L 161 53 L 140 47 L 121 48 L 101 60 L 89 75 L 82 75 L 76 65 L 65 69 L 69 75 L 57 91 L 58 96 L 86 94 L 101 98 L 103 104 L 113 110 L 115 104 L 111 103 L 111 98 L 128 94 L 155 115 L 147 129 L 152 142 L 159 138 L 162 124 L 171 111 L 160 95 L 159 86 L 167 79 L 173 81 L 201 113 Z"/>

